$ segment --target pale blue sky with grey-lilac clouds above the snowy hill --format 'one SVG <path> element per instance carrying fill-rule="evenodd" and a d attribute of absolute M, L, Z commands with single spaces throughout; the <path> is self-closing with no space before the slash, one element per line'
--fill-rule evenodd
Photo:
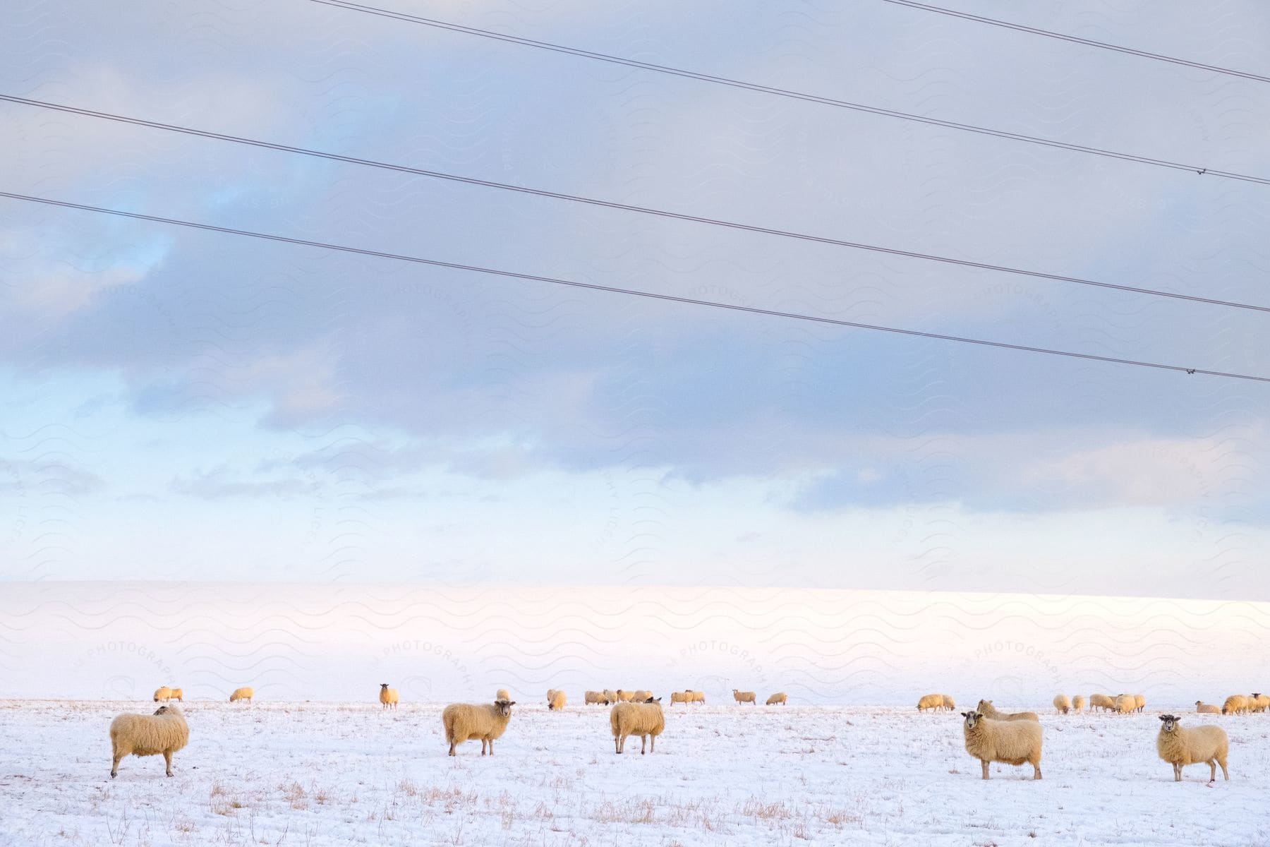
<path fill-rule="evenodd" d="M 385 6 L 1270 175 L 1266 83 L 847 4 Z M 950 4 L 951 5 L 951 4 Z M 955 8 L 1270 74 L 1270 10 Z M 1259 305 L 1265 185 L 306 0 L 22 4 L 5 94 Z M 0 190 L 1270 375 L 1270 316 L 0 103 Z M 0 198 L 0 579 L 1270 599 L 1270 387 Z"/>

